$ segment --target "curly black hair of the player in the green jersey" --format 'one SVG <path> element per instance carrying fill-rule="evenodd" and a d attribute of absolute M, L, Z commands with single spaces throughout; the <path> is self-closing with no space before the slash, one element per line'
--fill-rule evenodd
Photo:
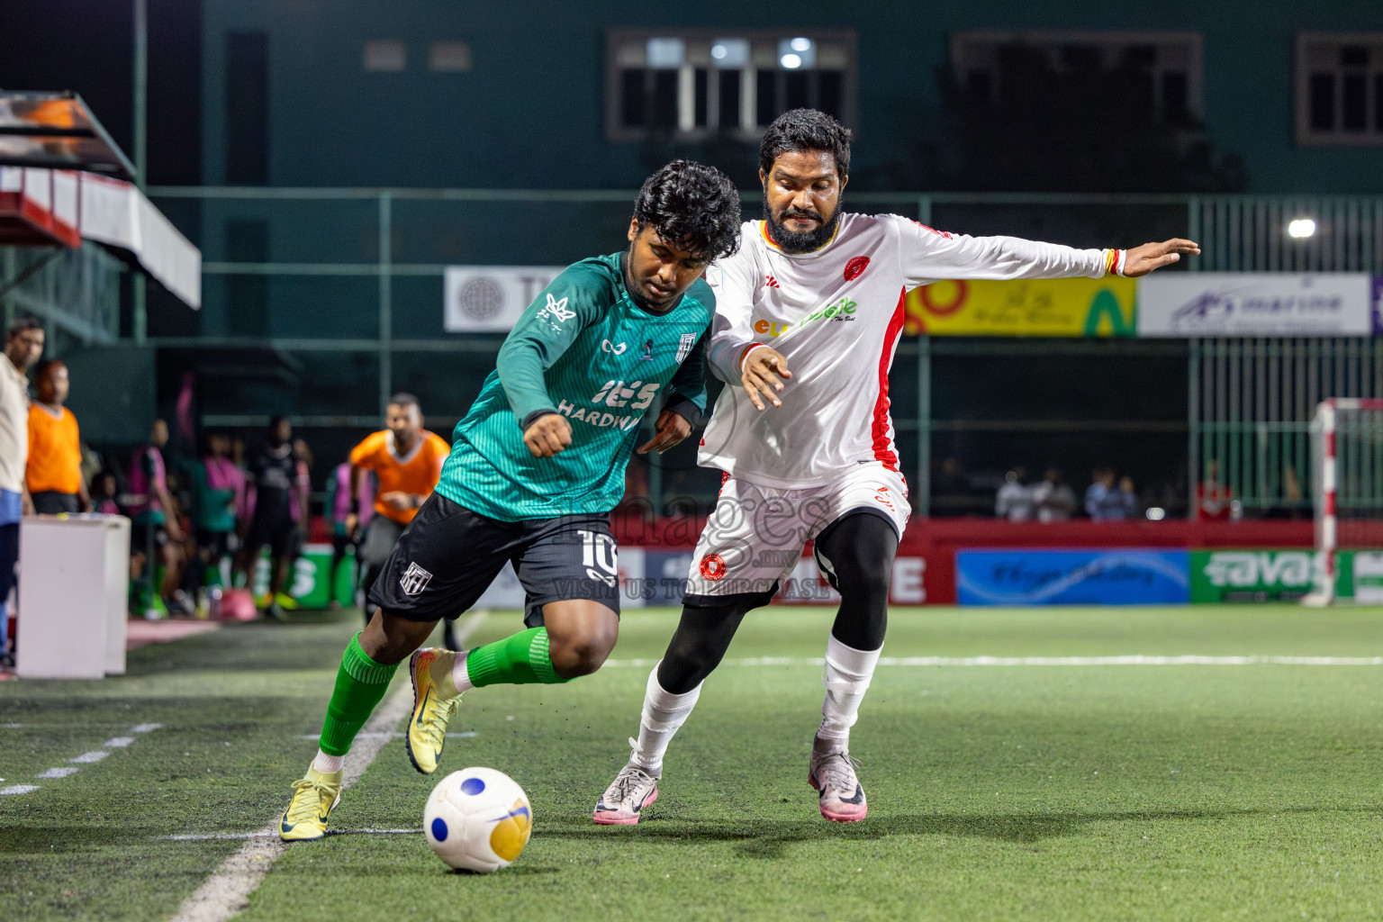
<path fill-rule="evenodd" d="M 740 249 L 740 192 L 714 166 L 674 160 L 650 176 L 633 203 L 639 231 L 653 225 L 669 243 L 709 261 Z"/>

